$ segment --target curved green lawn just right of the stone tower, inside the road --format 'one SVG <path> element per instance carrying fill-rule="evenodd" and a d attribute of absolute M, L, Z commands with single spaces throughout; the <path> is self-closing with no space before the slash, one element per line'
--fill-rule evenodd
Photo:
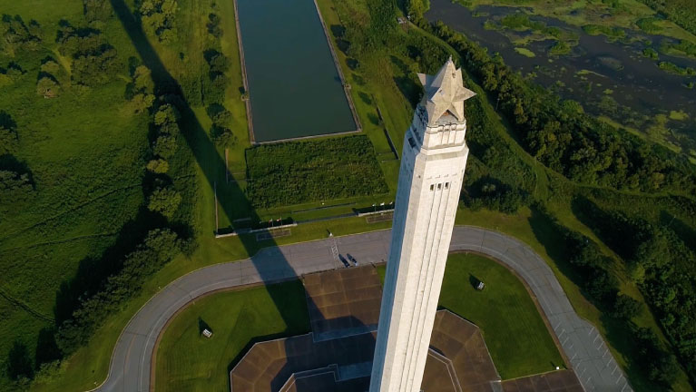
<path fill-rule="evenodd" d="M 377 273 L 384 281 L 385 266 L 379 266 Z M 485 289 L 477 291 L 472 278 L 484 281 Z M 450 254 L 439 306 L 481 328 L 485 345 L 503 379 L 564 366 L 524 284 L 494 260 L 471 253 Z"/>

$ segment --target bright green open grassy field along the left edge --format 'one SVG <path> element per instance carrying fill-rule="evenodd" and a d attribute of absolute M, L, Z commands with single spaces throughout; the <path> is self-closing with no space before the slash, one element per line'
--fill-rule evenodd
<path fill-rule="evenodd" d="M 82 87 L 71 82 L 74 70 L 65 67 L 70 62 L 54 42 L 60 19 L 82 23 L 82 2 L 5 1 L 0 8 L 26 23 L 36 20 L 44 32 L 35 50 L 8 54 L 0 49 L 2 73 L 8 64 L 21 70 L 11 83 L 0 83 L 0 116 L 15 122 L 18 140 L 13 154 L 0 158 L 0 170 L 25 168 L 33 182 L 26 197 L 0 198 L 0 368 L 5 375 L 15 341 L 34 358 L 39 331 L 54 326 L 56 293 L 80 263 L 100 258 L 114 241 L 124 240 L 121 228 L 143 202 L 149 120 L 123 98 L 130 80 L 126 60 L 134 51 L 117 20 L 101 27 L 118 53 L 117 72 L 106 83 Z M 48 56 L 62 64 L 56 77 L 63 86 L 52 99 L 36 93 L 37 74 Z M 8 388 L 7 378 L 0 377 L 0 389 Z"/>

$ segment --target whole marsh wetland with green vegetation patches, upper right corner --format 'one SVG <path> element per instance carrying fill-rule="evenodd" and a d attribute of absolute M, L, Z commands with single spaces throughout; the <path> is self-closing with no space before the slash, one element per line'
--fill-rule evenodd
<path fill-rule="evenodd" d="M 515 71 L 581 103 L 586 112 L 696 162 L 696 56 L 673 50 L 682 41 L 689 45 L 691 34 L 657 26 L 651 31 L 670 35 L 608 23 L 571 25 L 535 11 L 431 0 L 425 16 L 500 54 Z M 573 21 L 581 12 L 565 15 Z"/>

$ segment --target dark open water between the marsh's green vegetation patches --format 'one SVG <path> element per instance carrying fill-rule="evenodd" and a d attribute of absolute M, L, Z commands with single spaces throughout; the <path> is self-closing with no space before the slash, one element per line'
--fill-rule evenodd
<path fill-rule="evenodd" d="M 601 104 L 603 99 L 606 101 L 605 97 L 630 108 L 630 116 L 635 116 L 636 120 L 641 117 L 644 123 L 650 122 L 649 119 L 658 113 L 688 113 L 690 119 L 687 121 L 669 122 L 674 132 L 665 137 L 684 147 L 696 145 L 696 90 L 684 87 L 684 84 L 696 81 L 696 77 L 665 73 L 654 61 L 642 56 L 645 47 L 642 40 L 648 39 L 656 47 L 662 40 L 670 38 L 628 32 L 627 39 L 608 42 L 603 35 L 585 34 L 576 26 L 534 15 L 531 19 L 573 32 L 580 38 L 573 52 L 564 56 L 547 55 L 553 41 L 532 42 L 525 47 L 536 56 L 529 58 L 515 52 L 515 44 L 505 33 L 484 28 L 486 20 L 514 12 L 515 8 L 503 6 L 480 6 L 472 12 L 451 0 L 430 0 L 426 19 L 442 21 L 488 48 L 490 53 L 500 53 L 513 69 L 523 74 L 534 73 L 537 83 L 553 87 L 564 98 L 583 103 L 590 113 L 607 115 L 624 125 L 640 125 L 640 121 L 626 121 L 625 111 L 607 111 L 606 105 Z M 693 59 L 660 54 L 660 60 L 696 68 Z"/>

